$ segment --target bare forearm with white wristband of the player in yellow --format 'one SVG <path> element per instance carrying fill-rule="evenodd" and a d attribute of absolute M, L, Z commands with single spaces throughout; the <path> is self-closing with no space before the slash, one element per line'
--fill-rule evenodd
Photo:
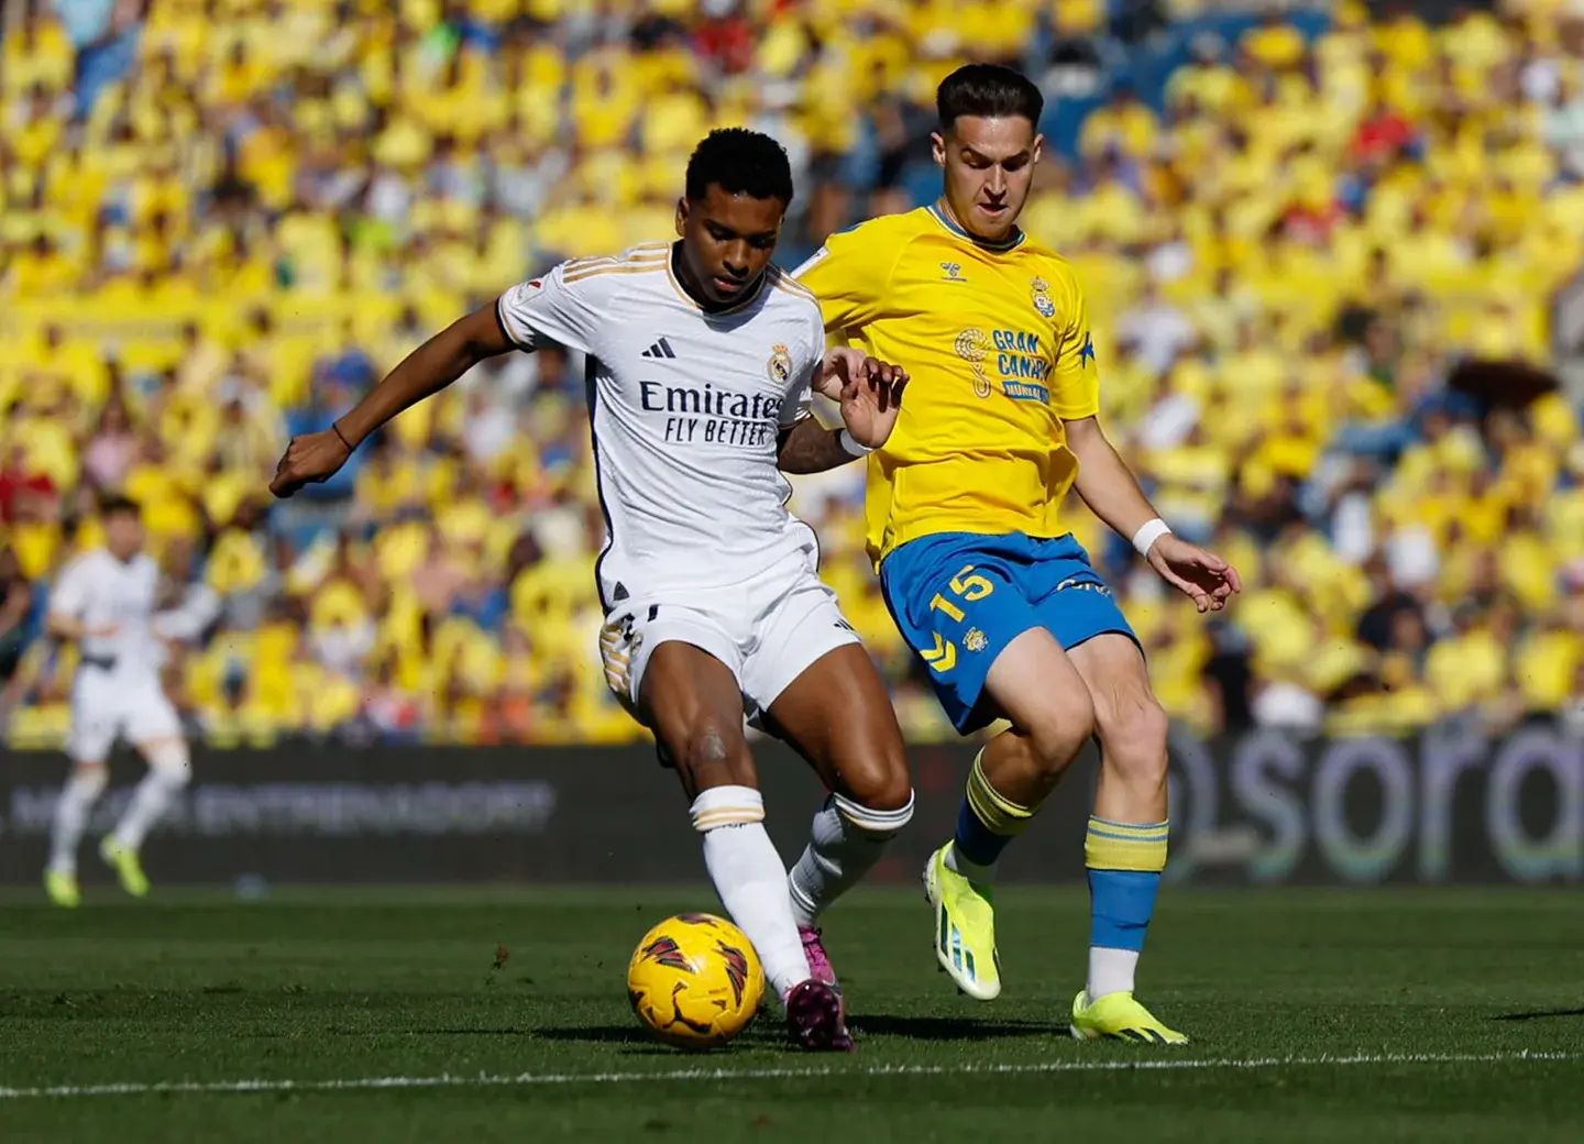
<path fill-rule="evenodd" d="M 1072 486 L 1083 504 L 1112 529 L 1133 540 L 1150 567 L 1166 583 L 1188 596 L 1199 612 L 1220 612 L 1243 583 L 1237 569 L 1212 551 L 1182 537 L 1155 512 L 1150 498 L 1139 488 L 1133 469 L 1117 455 L 1099 428 L 1099 418 L 1083 417 L 1066 421 L 1068 448 L 1079 461 Z"/>

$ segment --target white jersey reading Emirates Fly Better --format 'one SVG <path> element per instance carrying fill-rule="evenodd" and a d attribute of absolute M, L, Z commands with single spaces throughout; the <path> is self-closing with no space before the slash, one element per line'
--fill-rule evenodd
<path fill-rule="evenodd" d="M 521 349 L 543 337 L 588 357 L 607 608 L 640 591 L 738 585 L 817 551 L 787 512 L 776 437 L 809 412 L 825 355 L 819 303 L 770 266 L 752 296 L 710 314 L 670 260 L 672 246 L 653 242 L 567 261 L 497 304 Z"/>

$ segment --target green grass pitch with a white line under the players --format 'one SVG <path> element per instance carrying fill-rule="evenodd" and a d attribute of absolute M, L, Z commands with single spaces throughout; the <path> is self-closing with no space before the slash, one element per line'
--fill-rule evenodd
<path fill-rule="evenodd" d="M 1003 892 L 992 1005 L 916 894 L 859 894 L 841 1058 L 640 1035 L 627 955 L 702 889 L 157 894 L 0 905 L 0 1141 L 1584 1139 L 1574 890 L 1169 890 L 1175 1051 L 1068 1038 L 1082 890 Z"/>

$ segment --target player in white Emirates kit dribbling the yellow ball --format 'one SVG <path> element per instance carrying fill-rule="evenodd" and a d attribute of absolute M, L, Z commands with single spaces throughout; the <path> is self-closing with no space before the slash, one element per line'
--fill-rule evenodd
<path fill-rule="evenodd" d="M 507 290 L 415 350 L 323 433 L 291 442 L 271 490 L 336 472 L 371 433 L 483 358 L 540 339 L 588 357 L 610 539 L 597 564 L 611 689 L 691 799 L 705 865 L 806 1049 L 852 1047 L 814 921 L 912 814 L 885 686 L 819 578 L 784 472 L 882 444 L 906 374 L 825 350 L 819 304 L 770 255 L 792 200 L 781 146 L 714 132 L 687 163 L 680 242 L 580 258 Z M 811 391 L 846 428 L 809 415 Z M 832 792 L 790 876 L 763 829 L 744 713 Z"/>

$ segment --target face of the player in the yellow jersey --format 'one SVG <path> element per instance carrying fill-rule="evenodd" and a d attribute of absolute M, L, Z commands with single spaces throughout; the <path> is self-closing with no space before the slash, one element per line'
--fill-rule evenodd
<path fill-rule="evenodd" d="M 958 116 L 936 132 L 935 162 L 946 171 L 946 204 L 979 238 L 1006 238 L 1028 201 L 1045 136 L 1023 116 Z"/>

